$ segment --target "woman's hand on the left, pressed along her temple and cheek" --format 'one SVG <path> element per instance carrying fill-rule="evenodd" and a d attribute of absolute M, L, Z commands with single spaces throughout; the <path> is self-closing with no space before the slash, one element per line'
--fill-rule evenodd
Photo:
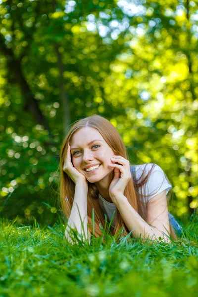
<path fill-rule="evenodd" d="M 87 183 L 86 177 L 80 173 L 71 162 L 71 151 L 68 143 L 67 154 L 65 155 L 63 171 L 72 179 L 75 185 L 79 182 Z"/>

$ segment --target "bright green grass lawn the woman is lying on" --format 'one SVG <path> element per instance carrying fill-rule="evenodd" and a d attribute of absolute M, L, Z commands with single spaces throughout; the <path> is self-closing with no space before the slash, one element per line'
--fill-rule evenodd
<path fill-rule="evenodd" d="M 0 220 L 0 297 L 198 296 L 197 215 L 171 244 L 105 235 L 71 245 L 64 230 Z"/>

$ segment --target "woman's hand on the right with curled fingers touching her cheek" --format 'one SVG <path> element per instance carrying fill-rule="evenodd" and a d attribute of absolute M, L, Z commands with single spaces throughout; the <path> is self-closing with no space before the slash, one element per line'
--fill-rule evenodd
<path fill-rule="evenodd" d="M 109 164 L 111 167 L 114 167 L 114 179 L 109 186 L 109 195 L 112 201 L 114 201 L 115 198 L 124 195 L 126 185 L 132 176 L 130 171 L 130 163 L 128 160 L 121 156 L 113 156 L 111 161 L 121 164 Z"/>

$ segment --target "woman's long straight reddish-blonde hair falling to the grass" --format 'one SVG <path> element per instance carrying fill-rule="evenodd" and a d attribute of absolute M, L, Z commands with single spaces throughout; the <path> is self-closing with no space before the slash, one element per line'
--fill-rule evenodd
<path fill-rule="evenodd" d="M 60 204 L 63 214 L 69 219 L 73 199 L 75 194 L 75 183 L 72 179 L 63 171 L 64 159 L 65 155 L 67 154 L 68 143 L 71 137 L 77 132 L 79 129 L 85 127 L 92 127 L 99 131 L 102 135 L 106 143 L 110 146 L 113 150 L 115 155 L 120 155 L 125 159 L 128 159 L 128 154 L 126 148 L 123 144 L 121 136 L 119 135 L 117 129 L 105 118 L 99 115 L 92 115 L 81 120 L 78 120 L 73 124 L 70 128 L 68 134 L 66 135 L 60 154 L 60 180 L 59 180 L 59 187 L 60 187 Z M 146 221 L 146 205 L 143 203 L 138 194 L 138 189 L 144 183 L 147 182 L 154 164 L 148 174 L 144 176 L 144 172 L 139 180 L 133 181 L 133 178 L 128 182 L 124 196 L 126 196 L 127 200 L 129 201 L 130 205 L 138 212 L 138 214 Z M 88 230 L 92 234 L 92 209 L 94 209 L 94 236 L 99 237 L 101 236 L 102 228 L 105 228 L 105 216 L 103 208 L 99 202 L 99 191 L 94 183 L 88 182 L 88 194 L 87 194 L 87 217 L 88 217 Z M 66 199 L 67 198 L 67 199 Z M 170 225 L 171 228 L 171 225 Z M 86 230 L 85 230 L 86 231 Z M 113 226 L 110 227 L 110 232 L 112 235 L 121 232 L 121 237 L 126 236 L 130 230 L 128 230 L 124 220 L 122 219 L 118 209 L 116 208 L 115 212 L 115 228 Z M 171 230 L 172 236 L 175 238 L 175 233 L 173 228 Z M 176 238 L 177 239 L 177 238 Z"/>

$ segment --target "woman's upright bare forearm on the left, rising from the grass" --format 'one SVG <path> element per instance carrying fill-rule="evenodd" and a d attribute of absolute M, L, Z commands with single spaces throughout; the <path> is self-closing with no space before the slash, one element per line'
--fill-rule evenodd
<path fill-rule="evenodd" d="M 83 234 L 84 239 L 87 239 L 87 192 L 88 185 L 83 183 L 76 184 L 73 206 L 68 220 L 67 228 L 65 230 L 65 236 L 67 238 L 67 232 L 70 230 L 68 226 L 70 226 L 71 228 L 75 228 L 78 234 Z M 83 227 L 81 221 L 83 222 Z"/>

